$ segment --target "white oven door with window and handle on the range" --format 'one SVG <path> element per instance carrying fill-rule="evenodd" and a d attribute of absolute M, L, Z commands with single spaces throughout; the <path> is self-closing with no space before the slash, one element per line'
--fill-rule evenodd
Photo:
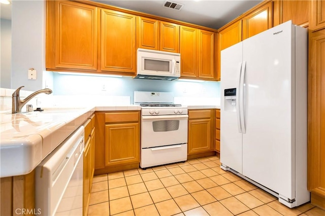
<path fill-rule="evenodd" d="M 142 116 L 141 148 L 187 143 L 188 115 Z"/>

